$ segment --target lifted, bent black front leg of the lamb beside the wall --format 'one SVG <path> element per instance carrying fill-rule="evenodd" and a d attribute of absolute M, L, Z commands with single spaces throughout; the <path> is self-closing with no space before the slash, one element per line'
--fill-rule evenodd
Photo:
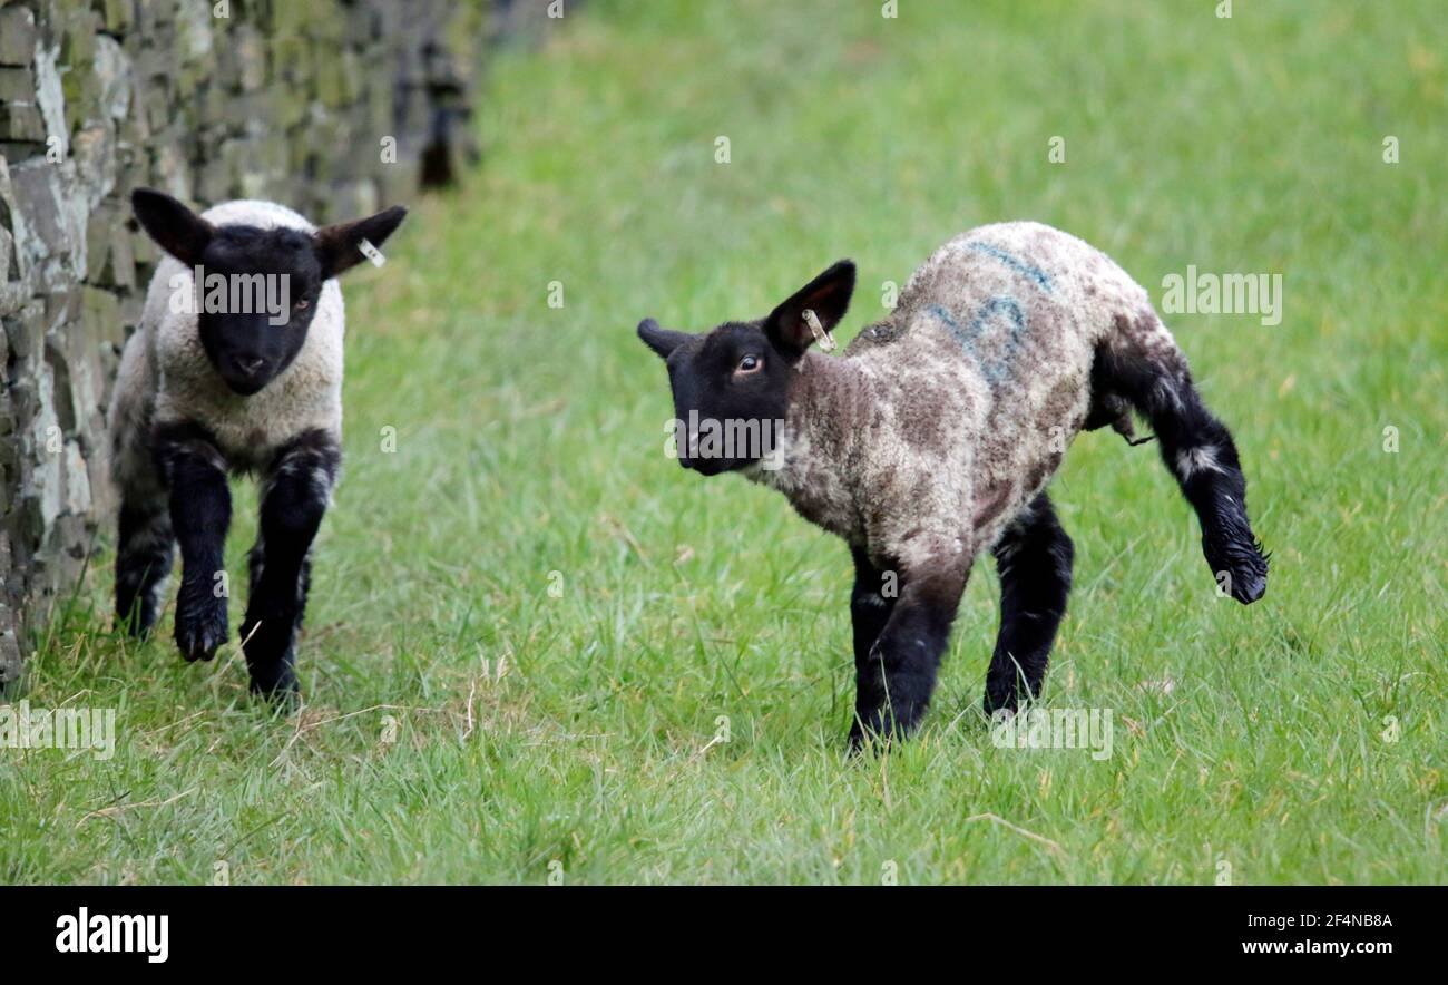
<path fill-rule="evenodd" d="M 226 642 L 223 552 L 232 524 L 226 459 L 206 429 L 162 424 L 153 437 L 156 465 L 167 479 L 171 529 L 181 546 L 181 591 L 175 640 L 187 661 L 210 661 Z"/>

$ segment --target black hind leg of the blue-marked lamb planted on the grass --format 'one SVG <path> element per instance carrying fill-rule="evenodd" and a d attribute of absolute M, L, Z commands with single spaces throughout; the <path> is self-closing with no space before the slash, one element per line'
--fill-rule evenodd
<path fill-rule="evenodd" d="M 1076 549 L 1041 492 L 995 546 L 1001 572 L 1001 632 L 986 674 L 986 714 L 1037 698 L 1056 629 L 1066 614 Z"/>

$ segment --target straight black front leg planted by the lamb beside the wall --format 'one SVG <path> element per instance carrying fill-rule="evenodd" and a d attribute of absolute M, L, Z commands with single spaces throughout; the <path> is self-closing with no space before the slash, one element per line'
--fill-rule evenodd
<path fill-rule="evenodd" d="M 340 461 L 336 436 L 311 430 L 282 448 L 266 471 L 242 623 L 242 649 L 256 694 L 297 690 L 294 643 L 307 604 L 308 552 Z"/>

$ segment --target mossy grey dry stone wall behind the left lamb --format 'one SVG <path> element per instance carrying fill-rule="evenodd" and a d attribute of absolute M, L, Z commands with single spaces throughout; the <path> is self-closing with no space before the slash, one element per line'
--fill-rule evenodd
<path fill-rule="evenodd" d="M 104 407 L 155 246 L 138 185 L 316 222 L 445 184 L 484 0 L 0 0 L 0 684 L 109 533 Z"/>

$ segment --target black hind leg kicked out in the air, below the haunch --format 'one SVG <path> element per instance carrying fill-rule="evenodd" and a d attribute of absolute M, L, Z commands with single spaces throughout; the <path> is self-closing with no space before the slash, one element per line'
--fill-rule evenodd
<path fill-rule="evenodd" d="M 1261 598 L 1267 558 L 1247 519 L 1247 477 L 1237 443 L 1202 403 L 1180 352 L 1106 355 L 1102 371 L 1108 385 L 1151 422 L 1161 459 L 1202 524 L 1202 553 L 1212 577 L 1244 605 Z"/>

